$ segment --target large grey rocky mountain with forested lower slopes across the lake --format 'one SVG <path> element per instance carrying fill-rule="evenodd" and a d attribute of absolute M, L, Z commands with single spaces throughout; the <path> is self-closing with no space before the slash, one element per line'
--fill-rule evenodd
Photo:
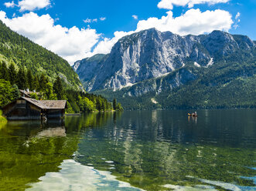
<path fill-rule="evenodd" d="M 125 109 L 251 107 L 255 55 L 255 42 L 244 35 L 180 36 L 151 28 L 75 65 L 87 91 L 116 97 Z"/>

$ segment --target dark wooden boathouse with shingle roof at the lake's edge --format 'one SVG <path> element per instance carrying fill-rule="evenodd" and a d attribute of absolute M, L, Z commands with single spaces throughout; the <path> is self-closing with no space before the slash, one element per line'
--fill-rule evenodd
<path fill-rule="evenodd" d="M 66 100 L 36 100 L 20 97 L 2 108 L 3 115 L 9 120 L 60 119 L 67 109 Z"/>

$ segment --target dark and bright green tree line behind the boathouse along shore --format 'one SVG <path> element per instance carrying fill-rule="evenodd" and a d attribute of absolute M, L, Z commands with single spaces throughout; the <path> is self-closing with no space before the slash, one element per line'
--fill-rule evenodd
<path fill-rule="evenodd" d="M 66 89 L 65 86 L 66 82 L 63 82 L 59 75 L 50 82 L 43 73 L 34 75 L 30 69 L 15 69 L 12 63 L 8 67 L 5 62 L 0 62 L 0 107 L 18 98 L 19 89 L 29 89 L 35 91 L 31 93 L 33 99 L 67 100 L 69 113 L 123 110 L 116 99 L 112 104 L 101 95 Z"/>

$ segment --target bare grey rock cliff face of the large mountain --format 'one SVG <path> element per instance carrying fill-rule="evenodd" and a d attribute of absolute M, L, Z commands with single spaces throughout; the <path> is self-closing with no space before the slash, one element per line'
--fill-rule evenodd
<path fill-rule="evenodd" d="M 251 52 L 254 49 L 254 42 L 243 35 L 213 31 L 209 35 L 180 36 L 151 28 L 120 39 L 108 55 L 94 55 L 75 62 L 73 69 L 87 91 L 116 91 L 135 85 L 132 94 L 142 95 L 197 79 L 196 73 L 186 69 L 186 65 L 208 68 L 216 62 L 225 62 L 237 52 L 253 56 Z M 159 82 L 163 76 L 177 69 L 183 70 L 161 85 L 150 83 Z M 144 81 L 149 82 L 148 85 Z"/>

